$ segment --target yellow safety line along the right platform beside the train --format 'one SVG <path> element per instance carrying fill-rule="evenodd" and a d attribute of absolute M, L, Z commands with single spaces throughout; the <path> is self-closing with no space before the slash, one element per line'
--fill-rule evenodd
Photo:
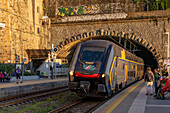
<path fill-rule="evenodd" d="M 140 81 L 137 85 L 133 86 L 131 89 L 126 91 L 122 96 L 115 99 L 109 106 L 107 106 L 103 111 L 100 113 L 111 113 L 128 95 L 131 93 L 137 86 L 143 83 L 143 80 Z"/>

